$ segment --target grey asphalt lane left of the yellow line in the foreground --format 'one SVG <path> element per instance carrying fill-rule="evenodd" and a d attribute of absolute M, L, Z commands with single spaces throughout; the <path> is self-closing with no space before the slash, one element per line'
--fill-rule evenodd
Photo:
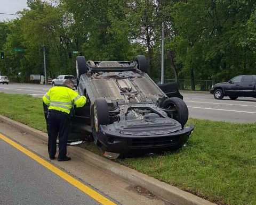
<path fill-rule="evenodd" d="M 100 204 L 0 139 L 0 204 Z"/>

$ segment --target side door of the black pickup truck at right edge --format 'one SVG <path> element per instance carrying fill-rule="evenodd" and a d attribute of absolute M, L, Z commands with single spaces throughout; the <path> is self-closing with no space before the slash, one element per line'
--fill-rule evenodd
<path fill-rule="evenodd" d="M 254 79 L 252 75 L 244 75 L 239 85 L 240 96 L 251 97 L 253 96 Z"/>

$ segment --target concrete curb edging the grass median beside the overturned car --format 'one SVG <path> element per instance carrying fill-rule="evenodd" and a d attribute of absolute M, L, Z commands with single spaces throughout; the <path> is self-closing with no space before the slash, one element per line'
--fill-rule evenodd
<path fill-rule="evenodd" d="M 10 118 L 0 115 L 0 121 L 9 124 L 23 132 L 29 133 L 36 136 L 44 141 L 47 141 L 47 134 L 38 130 L 35 130 L 27 125 L 13 121 Z M 114 161 L 95 155 L 94 153 L 84 150 L 79 147 L 69 147 L 72 155 L 79 157 L 85 163 L 92 164 L 102 170 L 107 170 L 109 173 L 114 174 L 124 180 L 131 182 L 142 187 L 157 195 L 157 197 L 165 199 L 174 204 L 214 204 L 206 201 L 202 198 L 197 197 L 191 193 L 182 191 L 175 186 L 171 186 L 164 182 L 158 181 L 153 177 L 147 176 L 146 174 L 139 173 L 131 168 L 117 164 Z"/>

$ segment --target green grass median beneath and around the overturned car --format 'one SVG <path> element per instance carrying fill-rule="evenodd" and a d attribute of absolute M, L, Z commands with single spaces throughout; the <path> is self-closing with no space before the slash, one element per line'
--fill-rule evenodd
<path fill-rule="evenodd" d="M 0 114 L 46 131 L 42 99 L 0 93 Z M 117 162 L 218 204 L 256 204 L 256 123 L 192 122 L 181 150 Z M 100 153 L 93 143 L 83 147 Z"/>

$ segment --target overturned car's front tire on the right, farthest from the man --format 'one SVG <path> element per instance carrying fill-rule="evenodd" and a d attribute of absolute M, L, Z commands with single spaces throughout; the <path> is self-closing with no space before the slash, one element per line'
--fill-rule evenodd
<path fill-rule="evenodd" d="M 175 110 L 172 114 L 173 119 L 178 121 L 182 127 L 185 126 L 188 121 L 188 107 L 182 99 L 177 97 L 167 98 L 164 100 L 162 107 Z"/>

